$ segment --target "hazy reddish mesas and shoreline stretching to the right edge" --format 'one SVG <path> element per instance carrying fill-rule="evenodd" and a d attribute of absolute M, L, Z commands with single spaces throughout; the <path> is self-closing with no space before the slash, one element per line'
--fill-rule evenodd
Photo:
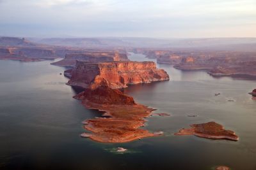
<path fill-rule="evenodd" d="M 231 76 L 234 78 L 256 78 L 255 51 L 202 50 L 186 48 L 173 50 L 133 49 L 148 58 L 157 59 L 160 64 L 174 64 L 173 67 L 184 71 L 205 70 L 211 76 Z"/>

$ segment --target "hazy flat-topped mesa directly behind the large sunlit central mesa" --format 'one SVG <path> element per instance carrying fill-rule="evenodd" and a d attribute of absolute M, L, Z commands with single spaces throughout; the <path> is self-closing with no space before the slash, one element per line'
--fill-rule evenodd
<path fill-rule="evenodd" d="M 76 61 L 86 62 L 108 62 L 108 61 L 119 61 L 128 60 L 126 53 L 119 52 L 101 52 L 101 51 L 89 51 L 82 53 L 67 53 L 65 59 L 58 62 L 51 63 L 56 66 L 76 66 Z"/>

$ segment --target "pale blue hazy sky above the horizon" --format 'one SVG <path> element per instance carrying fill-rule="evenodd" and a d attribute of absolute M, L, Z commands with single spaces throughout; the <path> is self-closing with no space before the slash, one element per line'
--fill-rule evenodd
<path fill-rule="evenodd" d="M 256 37 L 256 0 L 0 0 L 0 36 Z"/>

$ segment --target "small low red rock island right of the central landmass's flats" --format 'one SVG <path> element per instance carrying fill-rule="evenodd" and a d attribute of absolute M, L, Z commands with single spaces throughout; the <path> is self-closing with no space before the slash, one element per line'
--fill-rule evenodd
<path fill-rule="evenodd" d="M 195 135 L 201 138 L 209 139 L 228 139 L 238 141 L 238 136 L 229 130 L 225 130 L 222 125 L 216 122 L 208 122 L 205 124 L 193 124 L 189 129 L 181 129 L 175 135 Z"/>

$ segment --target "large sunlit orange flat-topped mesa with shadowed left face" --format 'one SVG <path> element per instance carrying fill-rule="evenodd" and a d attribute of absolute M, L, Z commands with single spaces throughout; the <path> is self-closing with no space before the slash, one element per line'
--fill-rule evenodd
<path fill-rule="evenodd" d="M 154 62 L 90 63 L 77 61 L 67 84 L 83 88 L 95 88 L 106 81 L 110 88 L 120 89 L 127 87 L 129 84 L 164 80 L 169 80 L 168 74 L 163 69 L 157 69 Z"/>

